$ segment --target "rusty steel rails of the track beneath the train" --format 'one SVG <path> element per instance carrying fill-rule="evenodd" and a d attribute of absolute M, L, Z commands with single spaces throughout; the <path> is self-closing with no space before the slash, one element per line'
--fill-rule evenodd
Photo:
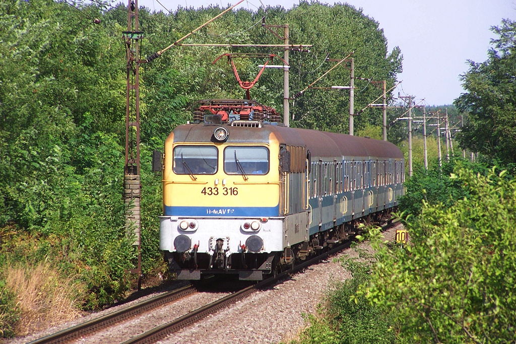
<path fill-rule="evenodd" d="M 389 227 L 395 225 L 396 223 L 387 225 L 383 227 L 384 230 Z M 191 312 L 176 318 L 172 321 L 169 321 L 163 325 L 157 326 L 154 329 L 144 332 L 138 336 L 135 336 L 131 339 L 128 339 L 123 342 L 123 344 L 135 344 L 135 343 L 155 343 L 159 341 L 169 334 L 177 332 L 181 329 L 184 329 L 187 326 L 195 324 L 199 322 L 203 318 L 208 315 L 217 313 L 219 310 L 230 306 L 231 304 L 236 303 L 239 300 L 245 299 L 251 293 L 256 292 L 257 290 L 267 288 L 268 286 L 275 284 L 279 280 L 284 279 L 288 275 L 299 272 L 310 265 L 316 264 L 320 260 L 325 260 L 329 256 L 337 254 L 342 250 L 349 248 L 351 241 L 335 245 L 333 248 L 328 250 L 327 252 L 318 255 L 312 259 L 307 259 L 302 261 L 298 265 L 294 266 L 293 269 L 278 273 L 276 276 L 270 277 L 260 283 L 248 286 L 246 288 L 240 289 L 236 292 L 229 294 L 228 296 L 222 297 L 212 303 L 206 304 L 198 309 L 192 310 Z M 65 343 L 72 340 L 76 340 L 80 337 L 89 336 L 96 332 L 99 332 L 106 327 L 114 326 L 117 323 L 122 321 L 127 321 L 130 318 L 136 318 L 138 315 L 149 312 L 149 310 L 158 308 L 167 303 L 171 303 L 175 300 L 179 300 L 189 294 L 197 292 L 198 289 L 193 286 L 185 286 L 167 293 L 164 293 L 158 297 L 146 300 L 144 302 L 132 305 L 130 307 L 118 310 L 116 312 L 110 313 L 100 318 L 96 318 L 90 320 L 88 322 L 70 327 L 69 329 L 57 332 L 50 336 L 46 336 L 34 341 L 29 342 L 29 344 L 43 344 L 43 343 Z"/>

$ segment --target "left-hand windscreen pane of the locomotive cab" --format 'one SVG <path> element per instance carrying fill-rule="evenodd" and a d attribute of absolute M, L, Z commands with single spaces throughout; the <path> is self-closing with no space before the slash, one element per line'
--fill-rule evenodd
<path fill-rule="evenodd" d="M 172 169 L 175 174 L 215 174 L 217 148 L 215 146 L 176 146 Z"/>

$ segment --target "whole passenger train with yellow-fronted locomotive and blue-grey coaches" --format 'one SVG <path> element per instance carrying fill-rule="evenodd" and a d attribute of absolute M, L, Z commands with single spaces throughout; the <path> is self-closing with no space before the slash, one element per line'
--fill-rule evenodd
<path fill-rule="evenodd" d="M 404 194 L 396 145 L 292 128 L 250 100 L 204 100 L 156 152 L 159 246 L 178 280 L 260 281 L 390 221 Z"/>

